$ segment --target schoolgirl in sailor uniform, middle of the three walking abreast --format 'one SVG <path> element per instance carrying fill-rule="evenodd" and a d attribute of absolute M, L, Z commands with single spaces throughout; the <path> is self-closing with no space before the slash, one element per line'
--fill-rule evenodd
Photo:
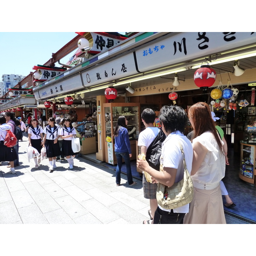
<path fill-rule="evenodd" d="M 55 125 L 55 118 L 50 117 L 48 124 L 44 128 L 44 145 L 46 148 L 46 155 L 49 158 L 49 171 L 53 172 L 56 169 L 56 157 L 61 154 L 58 138 L 60 137 L 60 128 Z"/>

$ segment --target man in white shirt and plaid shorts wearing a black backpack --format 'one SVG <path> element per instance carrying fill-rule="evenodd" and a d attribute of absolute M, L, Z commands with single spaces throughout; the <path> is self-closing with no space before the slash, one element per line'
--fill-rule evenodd
<path fill-rule="evenodd" d="M 140 146 L 140 153 L 146 155 L 149 145 L 152 143 L 159 132 L 159 128 L 154 127 L 154 120 L 156 118 L 155 112 L 151 108 L 145 108 L 141 113 L 141 119 L 145 125 L 145 130 L 139 135 L 138 146 Z M 157 209 L 157 183 L 150 183 L 146 180 L 143 172 L 143 192 L 144 198 L 149 199 L 150 211 L 148 215 L 153 220 L 154 212 Z M 152 223 L 153 221 L 151 221 Z M 149 224 L 149 221 L 143 221 L 143 224 Z"/>

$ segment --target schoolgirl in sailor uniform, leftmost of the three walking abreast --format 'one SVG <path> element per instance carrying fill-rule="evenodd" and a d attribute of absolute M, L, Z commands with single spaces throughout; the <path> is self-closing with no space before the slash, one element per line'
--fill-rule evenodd
<path fill-rule="evenodd" d="M 43 146 L 43 129 L 38 125 L 38 121 L 35 118 L 31 119 L 31 126 L 28 129 L 29 146 L 36 148 L 38 153 L 41 154 Z M 35 169 L 38 169 L 38 163 L 41 162 L 41 157 L 34 157 Z"/>

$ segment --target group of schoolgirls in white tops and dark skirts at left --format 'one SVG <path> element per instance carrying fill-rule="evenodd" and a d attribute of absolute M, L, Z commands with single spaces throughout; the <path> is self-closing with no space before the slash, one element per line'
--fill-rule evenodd
<path fill-rule="evenodd" d="M 54 117 L 48 119 L 48 125 L 44 129 L 38 125 L 38 120 L 30 118 L 28 128 L 20 117 L 15 118 L 13 112 L 5 112 L 0 116 L 0 163 L 9 162 L 11 173 L 15 174 L 15 167 L 19 166 L 19 140 L 13 147 L 7 147 L 4 145 L 7 130 L 11 130 L 15 134 L 15 126 L 19 126 L 22 131 L 28 132 L 29 145 L 37 149 L 41 154 L 42 148 L 46 149 L 46 155 L 49 159 L 49 171 L 53 172 L 56 166 L 56 159 L 60 161 L 67 159 L 69 163 L 69 169 L 74 169 L 74 158 L 78 152 L 73 152 L 71 140 L 76 137 L 76 130 L 72 126 L 69 118 L 61 119 L 58 117 L 55 122 Z M 61 126 L 63 123 L 63 126 Z M 66 158 L 65 158 L 66 157 Z M 41 163 L 41 155 L 34 157 L 35 169 L 38 169 L 38 164 Z"/>

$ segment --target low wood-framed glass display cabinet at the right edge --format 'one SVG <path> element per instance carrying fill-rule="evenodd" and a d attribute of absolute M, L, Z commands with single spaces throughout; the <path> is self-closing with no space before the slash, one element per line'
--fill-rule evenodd
<path fill-rule="evenodd" d="M 256 143 L 247 144 L 246 141 L 241 140 L 241 154 L 240 154 L 240 172 L 239 178 L 248 183 L 256 185 Z"/>

